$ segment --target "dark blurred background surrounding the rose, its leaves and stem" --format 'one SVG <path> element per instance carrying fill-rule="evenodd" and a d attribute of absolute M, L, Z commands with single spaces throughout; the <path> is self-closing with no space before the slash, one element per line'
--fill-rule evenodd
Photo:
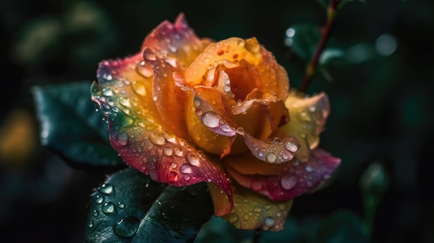
<path fill-rule="evenodd" d="M 90 83 L 99 61 L 137 52 L 150 30 L 180 12 L 199 37 L 257 37 L 295 88 L 306 61 L 288 29 L 322 26 L 326 17 L 315 0 L 1 1 L 2 242 L 83 242 L 89 194 L 110 172 L 71 168 L 40 145 L 31 88 Z M 351 1 L 340 10 L 331 44 L 345 58 L 325 65 L 308 93 L 329 95 L 321 147 L 342 165 L 327 190 L 295 200 L 292 219 L 341 209 L 365 217 L 359 183 L 370 170 L 388 181 L 376 195 L 372 242 L 434 242 L 433 33 L 433 1 Z"/>

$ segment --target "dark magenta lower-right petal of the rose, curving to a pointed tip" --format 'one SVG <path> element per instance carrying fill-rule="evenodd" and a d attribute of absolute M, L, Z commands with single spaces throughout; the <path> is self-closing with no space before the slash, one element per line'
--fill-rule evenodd
<path fill-rule="evenodd" d="M 286 168 L 282 168 L 276 175 L 243 174 L 242 170 L 234 170 L 231 165 L 226 168 L 242 186 L 252 188 L 272 201 L 288 201 L 320 186 L 324 180 L 331 177 L 339 163 L 340 159 L 317 148 L 311 151 L 311 157 L 306 163 L 285 163 Z"/>

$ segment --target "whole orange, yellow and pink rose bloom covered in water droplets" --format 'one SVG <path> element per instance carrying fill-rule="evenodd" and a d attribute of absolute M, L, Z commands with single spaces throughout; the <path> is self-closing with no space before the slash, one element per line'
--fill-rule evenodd
<path fill-rule="evenodd" d="M 325 93 L 289 90 L 257 39 L 199 39 L 184 15 L 164 21 L 139 53 L 99 64 L 92 99 L 114 150 L 173 186 L 205 181 L 215 214 L 238 228 L 283 228 L 292 199 L 340 159 L 318 147 Z"/>

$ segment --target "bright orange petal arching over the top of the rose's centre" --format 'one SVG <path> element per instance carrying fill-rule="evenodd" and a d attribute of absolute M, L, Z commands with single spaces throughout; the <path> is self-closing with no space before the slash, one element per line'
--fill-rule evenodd
<path fill-rule="evenodd" d="M 272 53 L 263 48 L 255 38 L 244 40 L 233 37 L 209 44 L 186 70 L 186 83 L 190 86 L 207 85 L 207 77 L 203 74 L 220 60 L 247 61 L 259 74 L 259 83 L 255 84 L 257 88 L 264 92 L 275 93 L 281 100 L 285 100 L 288 96 L 289 80 L 286 70 L 277 64 Z"/>

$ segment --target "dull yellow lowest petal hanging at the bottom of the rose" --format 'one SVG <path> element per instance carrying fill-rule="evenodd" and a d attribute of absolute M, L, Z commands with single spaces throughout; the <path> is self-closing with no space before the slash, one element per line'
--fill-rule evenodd
<path fill-rule="evenodd" d="M 276 203 L 241 186 L 234 190 L 234 209 L 223 216 L 236 228 L 245 230 L 263 229 L 280 231 L 284 228 L 286 217 L 293 201 Z"/>

